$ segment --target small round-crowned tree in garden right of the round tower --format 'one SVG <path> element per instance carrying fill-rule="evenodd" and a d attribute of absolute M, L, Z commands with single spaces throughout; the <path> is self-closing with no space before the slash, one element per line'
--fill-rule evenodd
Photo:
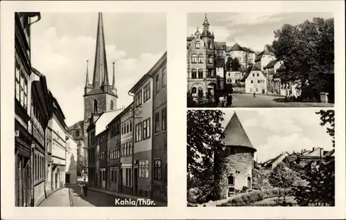
<path fill-rule="evenodd" d="M 273 187 L 283 188 L 284 189 L 284 200 L 285 198 L 285 190 L 293 185 L 295 181 L 294 172 L 286 167 L 284 163 L 277 164 L 276 167 L 273 168 L 271 173 L 269 174 L 269 183 L 273 185 Z M 279 195 L 280 199 L 280 195 Z"/>

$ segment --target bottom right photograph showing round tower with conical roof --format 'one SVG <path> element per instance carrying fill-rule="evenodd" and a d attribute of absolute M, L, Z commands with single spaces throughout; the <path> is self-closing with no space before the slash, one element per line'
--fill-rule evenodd
<path fill-rule="evenodd" d="M 334 206 L 334 136 L 334 109 L 188 110 L 188 206 Z"/>

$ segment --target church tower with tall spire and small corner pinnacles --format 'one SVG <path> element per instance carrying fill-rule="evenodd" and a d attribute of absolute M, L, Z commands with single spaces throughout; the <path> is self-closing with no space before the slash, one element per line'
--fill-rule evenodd
<path fill-rule="evenodd" d="M 88 62 L 88 61 L 86 61 Z M 97 118 L 104 111 L 115 110 L 118 99 L 113 63 L 113 83 L 109 84 L 106 44 L 102 12 L 98 12 L 98 33 L 96 36 L 95 65 L 93 67 L 93 82 L 89 84 L 89 70 L 86 66 L 86 82 L 84 86 L 84 149 L 88 147 L 86 129 L 93 118 Z M 92 117 L 92 118 L 91 118 Z M 87 155 L 87 154 L 85 154 Z"/>

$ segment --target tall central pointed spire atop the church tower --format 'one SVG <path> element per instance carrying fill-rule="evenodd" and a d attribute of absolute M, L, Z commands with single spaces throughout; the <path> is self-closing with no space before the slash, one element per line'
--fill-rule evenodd
<path fill-rule="evenodd" d="M 101 89 L 102 86 L 109 85 L 102 12 L 98 12 L 98 34 L 96 36 L 94 65 L 95 66 L 93 68 L 93 89 Z"/>

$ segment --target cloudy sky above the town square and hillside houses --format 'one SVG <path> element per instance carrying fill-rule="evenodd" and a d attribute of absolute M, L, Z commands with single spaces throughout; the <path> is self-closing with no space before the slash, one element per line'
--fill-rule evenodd
<path fill-rule="evenodd" d="M 188 14 L 188 36 L 194 34 L 199 27 L 203 30 L 205 13 Z M 263 51 L 265 44 L 274 40 L 274 30 L 284 24 L 300 24 L 313 17 L 331 18 L 327 12 L 210 12 L 207 13 L 210 31 L 214 32 L 216 42 L 226 42 L 233 46 L 250 47 L 255 51 Z"/>

